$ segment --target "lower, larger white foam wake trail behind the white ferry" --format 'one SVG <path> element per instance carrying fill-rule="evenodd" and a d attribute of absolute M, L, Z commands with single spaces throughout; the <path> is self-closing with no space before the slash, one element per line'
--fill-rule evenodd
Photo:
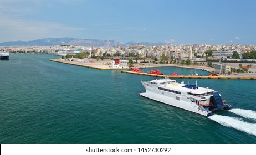
<path fill-rule="evenodd" d="M 209 116 L 209 119 L 220 123 L 223 126 L 233 127 L 237 130 L 247 132 L 249 134 L 256 136 L 256 124 L 248 123 L 240 120 L 239 118 L 229 117 L 229 116 L 221 116 L 214 114 L 213 116 Z"/>

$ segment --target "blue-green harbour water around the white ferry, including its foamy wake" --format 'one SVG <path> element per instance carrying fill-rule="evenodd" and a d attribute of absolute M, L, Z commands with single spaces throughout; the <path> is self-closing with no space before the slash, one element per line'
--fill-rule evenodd
<path fill-rule="evenodd" d="M 11 54 L 0 61 L 0 143 L 256 143 L 256 80 L 197 79 L 198 86 L 218 90 L 234 107 L 204 117 L 141 97 L 141 80 L 157 77 L 49 61 L 53 58 Z"/>

